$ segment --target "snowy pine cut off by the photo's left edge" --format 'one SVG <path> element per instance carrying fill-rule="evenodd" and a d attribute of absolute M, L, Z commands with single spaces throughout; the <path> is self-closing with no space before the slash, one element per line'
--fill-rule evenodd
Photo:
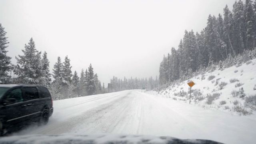
<path fill-rule="evenodd" d="M 6 33 L 2 24 L 0 24 L 0 84 L 8 83 L 10 76 L 8 76 L 7 72 L 11 70 L 11 57 L 6 55 L 8 51 L 5 50 L 8 47 L 7 44 L 9 44 L 5 36 Z"/>

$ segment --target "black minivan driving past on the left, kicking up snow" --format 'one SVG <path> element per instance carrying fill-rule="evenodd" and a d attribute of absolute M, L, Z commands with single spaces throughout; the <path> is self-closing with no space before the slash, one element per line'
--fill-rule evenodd
<path fill-rule="evenodd" d="M 29 124 L 47 124 L 53 112 L 52 105 L 45 86 L 0 84 L 0 136 Z"/>

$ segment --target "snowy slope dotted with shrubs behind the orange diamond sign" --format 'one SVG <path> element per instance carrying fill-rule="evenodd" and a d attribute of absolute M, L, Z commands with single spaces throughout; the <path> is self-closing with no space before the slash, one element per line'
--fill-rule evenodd
<path fill-rule="evenodd" d="M 216 68 L 212 72 L 204 72 L 179 84 L 173 84 L 158 93 L 149 93 L 189 103 L 190 87 L 187 83 L 190 80 L 195 83 L 191 92 L 192 105 L 238 115 L 255 114 L 256 59 L 224 70 Z"/>

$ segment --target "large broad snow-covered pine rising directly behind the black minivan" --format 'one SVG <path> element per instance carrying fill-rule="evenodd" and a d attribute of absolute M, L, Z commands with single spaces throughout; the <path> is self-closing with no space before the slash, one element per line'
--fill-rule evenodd
<path fill-rule="evenodd" d="M 33 38 L 28 45 L 25 44 L 25 50 L 22 50 L 23 56 L 15 57 L 17 65 L 14 67 L 14 74 L 18 76 L 20 83 L 26 84 L 44 84 L 45 77 L 42 70 L 41 52 L 35 48 Z"/>

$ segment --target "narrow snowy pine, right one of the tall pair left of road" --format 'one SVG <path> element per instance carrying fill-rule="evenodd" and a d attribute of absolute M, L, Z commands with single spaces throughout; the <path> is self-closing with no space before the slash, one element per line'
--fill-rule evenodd
<path fill-rule="evenodd" d="M 67 85 L 71 82 L 71 77 L 72 77 L 72 71 L 71 71 L 72 66 L 70 65 L 70 59 L 68 56 L 65 57 L 65 61 L 63 62 L 63 80 L 62 82 L 64 85 Z"/>

